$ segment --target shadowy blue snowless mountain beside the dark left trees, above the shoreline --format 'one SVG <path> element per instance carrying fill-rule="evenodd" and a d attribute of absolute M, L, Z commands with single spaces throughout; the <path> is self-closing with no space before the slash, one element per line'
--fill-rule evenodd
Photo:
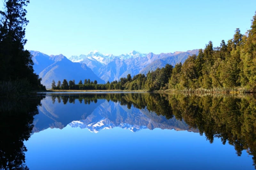
<path fill-rule="evenodd" d="M 41 83 L 46 88 L 52 87 L 52 80 L 56 83 L 60 80 L 62 83 L 63 79 L 75 80 L 76 84 L 79 80 L 84 82 L 84 79 L 97 80 L 99 84 L 105 83 L 85 64 L 71 62 L 64 55 L 49 56 L 37 51 L 30 53 L 33 55 L 34 70 L 42 78 Z"/>

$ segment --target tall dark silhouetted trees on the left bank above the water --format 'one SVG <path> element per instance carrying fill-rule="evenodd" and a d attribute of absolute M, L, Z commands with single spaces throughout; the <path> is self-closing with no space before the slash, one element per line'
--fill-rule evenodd
<path fill-rule="evenodd" d="M 25 26 L 28 20 L 24 7 L 28 0 L 4 0 L 4 11 L 0 11 L 0 80 L 26 79 L 32 88 L 41 85 L 33 69 L 32 56 L 24 50 L 27 40 Z"/>

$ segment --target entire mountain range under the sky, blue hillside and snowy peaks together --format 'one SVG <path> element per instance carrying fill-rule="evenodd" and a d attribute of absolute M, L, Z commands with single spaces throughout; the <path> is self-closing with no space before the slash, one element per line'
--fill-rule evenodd
<path fill-rule="evenodd" d="M 174 66 L 176 63 L 184 63 L 189 55 L 198 54 L 198 50 L 188 50 L 186 52 L 142 54 L 138 51 L 131 51 L 128 54 L 112 55 L 102 54 L 99 51 L 92 51 L 87 55 L 71 56 L 46 55 L 38 51 L 30 51 L 34 62 L 35 73 L 42 78 L 41 83 L 46 88 L 51 88 L 52 80 L 57 83 L 63 79 L 97 80 L 99 84 L 104 84 L 120 78 L 127 77 L 128 74 L 135 76 L 139 73 L 147 74 L 156 68 L 162 68 L 166 64 Z"/>

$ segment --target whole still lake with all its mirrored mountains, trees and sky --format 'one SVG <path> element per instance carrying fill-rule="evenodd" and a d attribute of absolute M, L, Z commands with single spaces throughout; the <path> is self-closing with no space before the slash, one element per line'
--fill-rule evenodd
<path fill-rule="evenodd" d="M 254 95 L 66 92 L 0 101 L 1 169 L 255 169 Z"/>

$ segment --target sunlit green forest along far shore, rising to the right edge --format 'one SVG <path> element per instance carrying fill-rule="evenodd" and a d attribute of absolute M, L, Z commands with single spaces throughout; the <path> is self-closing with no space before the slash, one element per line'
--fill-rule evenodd
<path fill-rule="evenodd" d="M 73 90 L 183 90 L 188 92 L 256 92 L 256 14 L 252 18 L 251 29 L 244 35 L 236 28 L 232 39 L 213 47 L 212 41 L 198 55 L 189 56 L 174 67 L 149 71 L 147 75 L 130 74 L 119 81 L 97 84 L 87 79 L 58 84 L 52 82 L 52 89 Z"/>

